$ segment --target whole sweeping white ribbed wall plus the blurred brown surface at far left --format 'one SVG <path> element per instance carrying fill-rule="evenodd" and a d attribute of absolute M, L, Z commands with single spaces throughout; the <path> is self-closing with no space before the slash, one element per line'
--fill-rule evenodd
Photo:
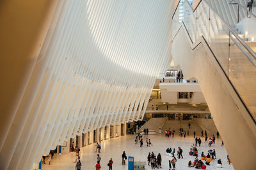
<path fill-rule="evenodd" d="M 76 135 L 143 118 L 170 64 L 177 1 L 0 4 L 0 169 L 31 169 Z"/>

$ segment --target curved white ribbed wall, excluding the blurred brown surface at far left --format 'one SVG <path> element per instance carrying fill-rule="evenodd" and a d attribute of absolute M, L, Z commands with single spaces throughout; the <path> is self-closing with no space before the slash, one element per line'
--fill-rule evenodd
<path fill-rule="evenodd" d="M 59 1 L 1 167 L 31 169 L 77 134 L 143 118 L 156 76 L 170 64 L 172 4 Z"/>

